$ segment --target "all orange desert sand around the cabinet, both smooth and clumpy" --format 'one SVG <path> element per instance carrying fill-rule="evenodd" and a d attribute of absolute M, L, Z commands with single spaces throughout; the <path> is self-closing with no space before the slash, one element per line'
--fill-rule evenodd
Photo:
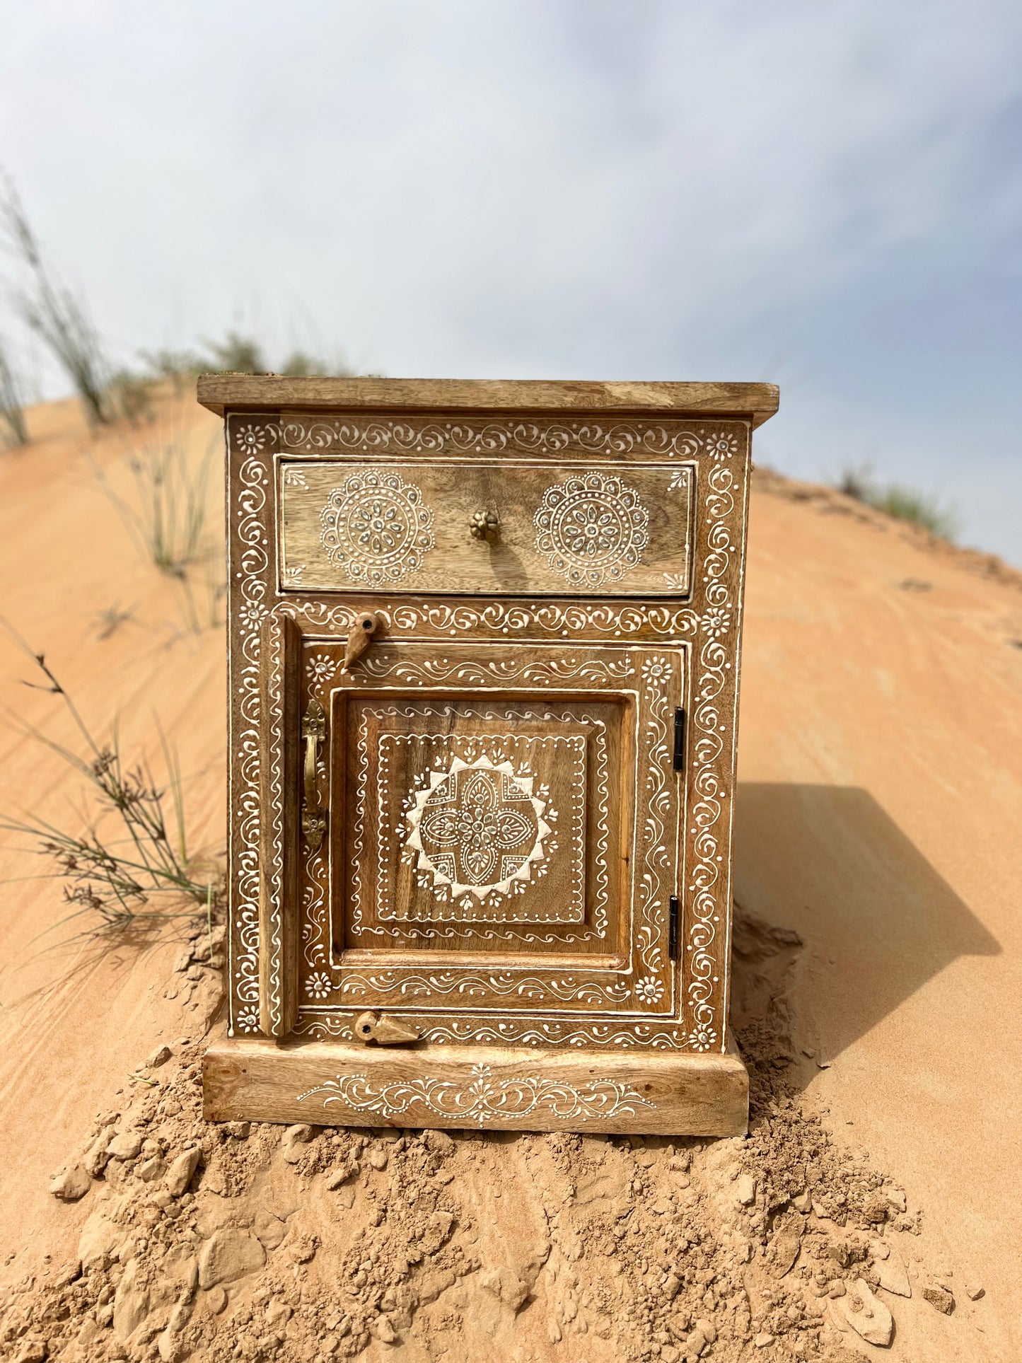
<path fill-rule="evenodd" d="M 215 856 L 206 570 L 189 605 L 94 469 L 129 495 L 132 451 L 213 447 L 215 559 L 219 425 L 168 395 L 139 431 L 94 438 L 69 402 L 30 428 L 0 455 L 3 613 L 98 732 L 116 721 L 155 765 L 158 717 L 192 845 Z M 114 605 L 131 616 L 110 631 Z M 20 684 L 30 662 L 7 643 L 0 662 L 8 716 L 72 741 Z M 1021 691 L 1018 574 L 758 472 L 733 1006 L 748 1141 L 206 1127 L 215 939 L 46 934 L 60 883 L 26 879 L 41 866 L 7 837 L 0 1358 L 1014 1363 Z M 0 752 L 7 812 L 80 819 L 80 778 L 15 718 Z"/>

